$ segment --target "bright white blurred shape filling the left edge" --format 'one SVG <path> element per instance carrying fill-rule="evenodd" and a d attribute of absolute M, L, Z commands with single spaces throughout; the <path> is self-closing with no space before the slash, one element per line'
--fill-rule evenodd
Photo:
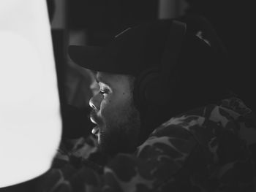
<path fill-rule="evenodd" d="M 0 188 L 50 168 L 61 116 L 45 0 L 0 1 Z"/>

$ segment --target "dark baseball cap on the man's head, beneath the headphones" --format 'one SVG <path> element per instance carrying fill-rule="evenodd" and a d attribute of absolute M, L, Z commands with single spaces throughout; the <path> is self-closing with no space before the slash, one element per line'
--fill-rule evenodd
<path fill-rule="evenodd" d="M 184 45 L 181 46 L 180 61 L 197 64 L 197 61 L 187 60 L 203 58 L 203 60 L 212 61 L 211 58 L 216 58 L 216 49 L 211 47 L 211 42 L 196 34 L 196 31 L 200 31 L 201 28 L 198 23 L 207 23 L 206 20 L 202 22 L 201 18 L 191 17 L 154 20 L 127 28 L 113 37 L 112 41 L 104 47 L 69 45 L 69 57 L 75 64 L 86 69 L 138 76 L 150 67 L 160 67 L 159 63 L 173 20 L 187 23 L 188 27 Z"/>

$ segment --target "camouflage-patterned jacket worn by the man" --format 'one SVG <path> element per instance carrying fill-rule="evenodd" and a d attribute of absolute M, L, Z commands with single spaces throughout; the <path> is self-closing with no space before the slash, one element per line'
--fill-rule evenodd
<path fill-rule="evenodd" d="M 72 153 L 86 158 L 90 146 Z M 70 163 L 51 169 L 42 191 L 251 192 L 255 151 L 255 116 L 241 100 L 225 99 L 170 118 L 134 154 L 118 154 L 99 169 Z"/>

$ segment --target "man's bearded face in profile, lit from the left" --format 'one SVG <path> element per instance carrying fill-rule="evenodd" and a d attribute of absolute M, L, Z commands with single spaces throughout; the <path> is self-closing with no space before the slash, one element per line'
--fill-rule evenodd
<path fill-rule="evenodd" d="M 91 121 L 97 126 L 99 149 L 110 155 L 131 152 L 138 144 L 140 116 L 132 98 L 127 75 L 97 72 L 99 92 L 90 100 Z"/>

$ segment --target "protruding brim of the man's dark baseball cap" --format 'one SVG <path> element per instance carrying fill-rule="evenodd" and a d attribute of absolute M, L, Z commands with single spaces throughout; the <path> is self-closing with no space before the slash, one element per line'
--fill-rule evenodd
<path fill-rule="evenodd" d="M 69 45 L 69 58 L 86 69 L 91 69 L 97 72 L 112 72 L 110 59 L 106 55 L 105 47 L 86 46 L 86 45 Z"/>

